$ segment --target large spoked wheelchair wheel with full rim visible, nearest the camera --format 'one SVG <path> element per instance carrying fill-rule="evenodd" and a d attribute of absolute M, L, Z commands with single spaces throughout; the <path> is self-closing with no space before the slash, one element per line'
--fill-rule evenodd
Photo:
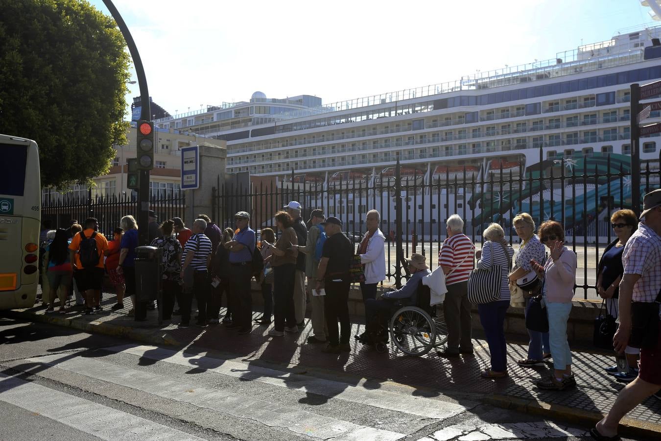
<path fill-rule="evenodd" d="M 406 306 L 393 315 L 390 335 L 395 346 L 405 354 L 422 356 L 435 345 L 436 324 L 419 307 Z"/>

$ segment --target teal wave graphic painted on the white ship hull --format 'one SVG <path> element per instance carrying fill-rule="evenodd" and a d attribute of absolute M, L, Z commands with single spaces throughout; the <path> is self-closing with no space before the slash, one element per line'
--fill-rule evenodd
<path fill-rule="evenodd" d="M 493 177 L 493 183 L 498 184 L 498 170 L 494 171 Z M 627 155 L 593 153 L 588 157 L 574 156 L 564 161 L 547 159 L 526 167 L 522 178 L 513 180 L 515 184 L 521 182 L 523 188 L 520 189 L 473 192 L 468 204 L 472 210 L 479 210 L 473 223 L 490 223 L 504 218 L 510 220 L 520 212 L 543 220 L 561 220 L 563 180 L 565 228 L 582 225 L 584 217 L 588 222 L 594 220 L 607 208 L 607 200 L 610 200 L 611 206 L 631 206 L 631 157 Z M 503 174 L 505 180 L 509 182 L 509 173 L 507 177 Z M 554 193 L 553 200 L 551 191 Z M 540 192 L 542 216 L 539 216 Z"/>

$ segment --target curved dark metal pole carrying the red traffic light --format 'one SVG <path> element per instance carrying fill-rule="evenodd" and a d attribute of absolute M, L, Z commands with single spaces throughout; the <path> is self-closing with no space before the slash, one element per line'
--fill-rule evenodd
<path fill-rule="evenodd" d="M 103 0 L 104 5 L 110 11 L 110 15 L 115 19 L 117 26 L 120 28 L 126 46 L 133 58 L 134 66 L 136 67 L 137 83 L 140 87 L 140 119 L 151 121 L 151 109 L 149 106 L 149 91 L 147 90 L 147 77 L 145 77 L 145 69 L 142 67 L 142 60 L 140 54 L 137 52 L 136 42 L 134 42 L 131 32 L 126 26 L 126 22 L 122 19 L 119 11 L 112 3 L 112 0 Z M 136 145 L 137 148 L 137 145 Z M 123 165 L 122 165 L 123 167 Z M 139 188 L 137 190 L 137 226 L 138 226 L 138 245 L 147 245 L 149 243 L 149 170 L 140 171 Z"/>

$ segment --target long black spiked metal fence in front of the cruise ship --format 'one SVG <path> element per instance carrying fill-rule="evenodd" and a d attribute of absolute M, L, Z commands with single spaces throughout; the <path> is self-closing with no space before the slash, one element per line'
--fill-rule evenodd
<path fill-rule="evenodd" d="M 438 265 L 438 249 L 446 239 L 446 220 L 459 214 L 465 220 L 465 233 L 483 243 L 482 231 L 491 222 L 502 227 L 510 243 L 519 239 L 511 226 L 516 214 L 531 214 L 536 225 L 545 220 L 560 221 L 566 243 L 579 257 L 576 288 L 584 298 L 594 290 L 596 262 L 615 235 L 609 217 L 621 208 L 632 208 L 631 159 L 625 155 L 594 153 L 581 157 L 543 159 L 529 167 L 438 168 L 432 173 L 415 171 L 405 175 L 399 161 L 388 175 L 367 178 L 348 177 L 334 182 L 290 182 L 221 185 L 218 180 L 212 202 L 213 218 L 223 227 L 233 227 L 238 211 L 251 213 L 254 229 L 276 225 L 274 214 L 297 200 L 303 206 L 303 219 L 321 208 L 326 216 L 343 222 L 343 231 L 355 241 L 366 231 L 366 212 L 381 214 L 381 231 L 387 237 L 388 282 L 398 286 L 408 277 L 403 259 L 411 253 L 426 255 L 433 269 Z M 409 167 L 410 169 L 410 167 Z M 347 175 L 348 176 L 348 175 Z M 641 194 L 659 188 L 658 162 L 646 163 L 641 171 Z M 642 201 L 641 201 L 642 202 Z M 515 246 L 516 247 L 516 246 Z"/>

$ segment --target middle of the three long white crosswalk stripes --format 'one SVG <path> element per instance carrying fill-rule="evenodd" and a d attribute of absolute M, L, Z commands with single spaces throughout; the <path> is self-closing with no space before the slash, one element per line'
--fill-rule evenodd
<path fill-rule="evenodd" d="M 266 426 L 284 428 L 313 438 L 333 438 L 345 441 L 367 439 L 395 441 L 405 436 L 405 434 L 391 430 L 360 426 L 352 422 L 299 410 L 292 405 L 269 403 L 262 399 L 212 389 L 196 383 L 173 380 L 159 374 L 117 366 L 97 359 L 73 358 L 58 361 L 58 358 L 58 355 L 53 355 L 30 358 L 26 361 L 47 364 L 89 378 L 130 387 L 151 395 L 188 403 L 233 417 L 250 419 Z"/>

